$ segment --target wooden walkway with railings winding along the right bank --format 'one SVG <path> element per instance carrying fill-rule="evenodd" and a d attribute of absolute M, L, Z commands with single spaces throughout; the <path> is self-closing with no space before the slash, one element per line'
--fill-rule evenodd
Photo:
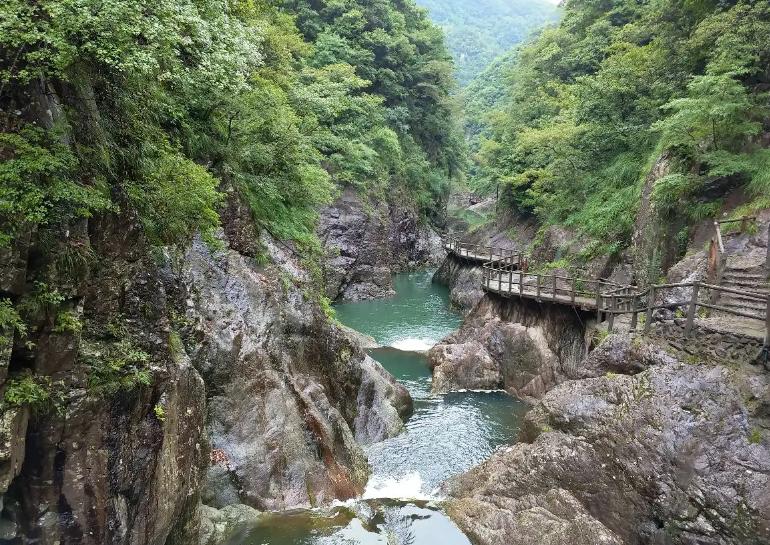
<path fill-rule="evenodd" d="M 522 252 L 463 243 L 453 238 L 444 241 L 444 248 L 461 259 L 482 264 L 484 291 L 502 297 L 595 311 L 599 321 L 607 321 L 609 331 L 612 331 L 618 316 L 630 315 L 631 329 L 636 331 L 643 323 L 644 333 L 648 333 L 655 319 L 654 312 L 667 309 L 687 318 L 685 332 L 689 337 L 696 318 L 708 318 L 711 313 L 717 312 L 745 322 L 745 329 L 751 331 L 752 336 L 756 335 L 755 331 L 764 332 L 765 350 L 770 350 L 770 295 L 702 282 L 656 284 L 642 289 L 605 280 L 530 273 L 527 272 L 529 258 Z M 681 293 L 688 294 L 686 300 L 678 300 Z M 747 312 L 722 306 L 719 299 L 723 294 L 738 294 L 751 301 L 755 308 Z M 759 315 L 757 308 L 760 309 Z"/>

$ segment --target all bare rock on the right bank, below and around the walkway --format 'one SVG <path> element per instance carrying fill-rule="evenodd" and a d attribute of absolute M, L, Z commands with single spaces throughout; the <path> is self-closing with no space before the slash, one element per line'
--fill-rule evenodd
<path fill-rule="evenodd" d="M 764 262 L 768 219 L 725 239 L 736 263 Z M 630 274 L 623 259 L 603 267 Z M 669 281 L 705 279 L 706 267 L 693 249 Z M 462 297 L 462 276 L 445 275 L 453 269 L 479 267 L 450 256 L 434 278 Z M 504 388 L 532 403 L 518 444 L 444 487 L 474 542 L 770 542 L 761 338 L 698 319 L 698 340 L 686 339 L 677 316 L 661 310 L 649 334 L 607 336 L 593 314 L 488 294 L 431 349 L 434 389 Z"/>

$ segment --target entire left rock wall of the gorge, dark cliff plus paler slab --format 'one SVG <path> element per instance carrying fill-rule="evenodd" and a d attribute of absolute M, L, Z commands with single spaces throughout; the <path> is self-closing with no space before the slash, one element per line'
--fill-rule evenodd
<path fill-rule="evenodd" d="M 363 489 L 361 445 L 397 433 L 411 399 L 303 295 L 306 273 L 282 245 L 259 241 L 277 264 L 256 265 L 238 210 L 214 253 L 200 241 L 153 253 L 132 218 L 110 216 L 71 227 L 99 267 L 69 284 L 41 276 L 49 264 L 39 253 L 30 264 L 26 249 L 4 264 L 4 293 L 18 300 L 45 278 L 64 286 L 58 312 L 80 325 L 41 315 L 33 344 L 0 332 L 0 399 L 32 372 L 52 396 L 2 405 L 0 541 L 189 545 L 201 497 L 230 506 L 207 518 L 210 536 L 249 512 L 241 504 L 311 506 Z"/>

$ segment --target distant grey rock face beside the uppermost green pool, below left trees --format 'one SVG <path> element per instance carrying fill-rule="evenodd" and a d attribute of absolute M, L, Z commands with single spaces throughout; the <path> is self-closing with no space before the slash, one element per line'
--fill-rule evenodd
<path fill-rule="evenodd" d="M 399 202 L 401 201 L 401 202 Z M 360 300 L 393 295 L 391 274 L 444 258 L 441 238 L 405 198 L 364 203 L 352 189 L 321 211 L 327 296 Z"/>

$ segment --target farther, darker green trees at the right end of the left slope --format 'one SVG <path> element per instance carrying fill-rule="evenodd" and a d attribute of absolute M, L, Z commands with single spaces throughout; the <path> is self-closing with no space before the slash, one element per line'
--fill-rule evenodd
<path fill-rule="evenodd" d="M 441 32 L 410 0 L 284 9 L 315 44 L 294 96 L 318 123 L 312 137 L 331 178 L 370 194 L 404 189 L 435 215 L 464 162 Z"/>

